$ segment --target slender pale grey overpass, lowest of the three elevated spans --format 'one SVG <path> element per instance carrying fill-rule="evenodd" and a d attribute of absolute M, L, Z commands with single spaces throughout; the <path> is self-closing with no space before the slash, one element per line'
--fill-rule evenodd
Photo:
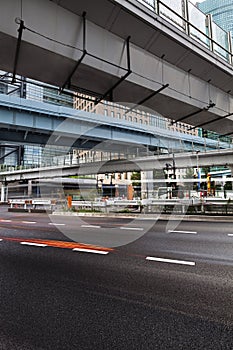
<path fill-rule="evenodd" d="M 225 165 L 233 172 L 232 149 L 199 153 L 176 153 L 174 154 L 174 161 L 177 169 L 196 168 L 198 163 L 199 167 Z M 114 172 L 150 171 L 154 169 L 163 169 L 166 163 L 173 163 L 173 157 L 171 155 L 1 172 L 0 181 L 4 183 L 5 181 L 40 180 L 46 178 L 61 178 L 71 175 L 82 176 Z"/>

